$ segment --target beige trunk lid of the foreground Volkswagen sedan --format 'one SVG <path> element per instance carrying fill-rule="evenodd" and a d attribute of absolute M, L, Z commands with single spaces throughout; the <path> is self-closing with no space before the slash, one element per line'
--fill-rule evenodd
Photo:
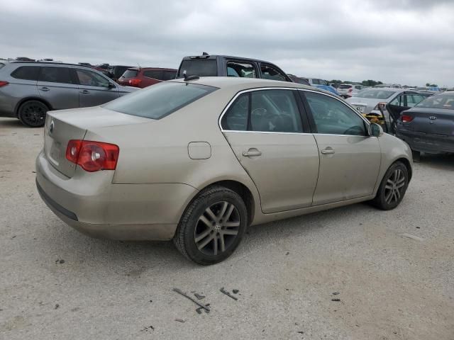
<path fill-rule="evenodd" d="M 126 115 L 101 107 L 50 111 L 44 131 L 45 157 L 55 169 L 67 177 L 72 177 L 76 171 L 76 164 L 66 159 L 66 148 L 70 140 L 84 140 L 87 131 L 92 128 L 150 121 L 147 118 Z"/>

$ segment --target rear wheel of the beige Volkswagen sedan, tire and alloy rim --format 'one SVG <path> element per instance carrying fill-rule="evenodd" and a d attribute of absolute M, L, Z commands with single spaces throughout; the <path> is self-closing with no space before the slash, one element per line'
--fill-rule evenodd
<path fill-rule="evenodd" d="M 238 193 L 212 186 L 184 211 L 174 243 L 187 259 L 206 266 L 231 256 L 247 225 L 248 211 Z"/>

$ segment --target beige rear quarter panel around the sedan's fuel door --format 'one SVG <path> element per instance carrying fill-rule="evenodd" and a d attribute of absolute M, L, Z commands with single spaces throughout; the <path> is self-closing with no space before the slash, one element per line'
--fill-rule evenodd
<path fill-rule="evenodd" d="M 238 181 L 253 194 L 257 210 L 258 191 L 218 127 L 218 117 L 235 93 L 214 91 L 160 120 L 94 128 L 85 139 L 111 142 L 120 148 L 113 183 L 184 183 L 200 191 L 217 181 Z M 190 142 L 209 143 L 211 157 L 191 159 Z"/>

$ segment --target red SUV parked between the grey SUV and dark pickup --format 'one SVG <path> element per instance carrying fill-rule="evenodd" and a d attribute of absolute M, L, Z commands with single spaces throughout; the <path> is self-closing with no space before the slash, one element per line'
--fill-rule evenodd
<path fill-rule="evenodd" d="M 118 78 L 123 86 L 144 87 L 157 84 L 160 81 L 175 79 L 177 69 L 160 69 L 157 67 L 130 67 Z"/>

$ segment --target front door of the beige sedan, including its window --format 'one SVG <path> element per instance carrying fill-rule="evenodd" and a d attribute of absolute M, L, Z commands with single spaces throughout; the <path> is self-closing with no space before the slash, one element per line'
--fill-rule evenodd
<path fill-rule="evenodd" d="M 320 154 L 314 205 L 371 195 L 380 171 L 378 138 L 367 136 L 365 120 L 340 99 L 303 92 Z"/>

